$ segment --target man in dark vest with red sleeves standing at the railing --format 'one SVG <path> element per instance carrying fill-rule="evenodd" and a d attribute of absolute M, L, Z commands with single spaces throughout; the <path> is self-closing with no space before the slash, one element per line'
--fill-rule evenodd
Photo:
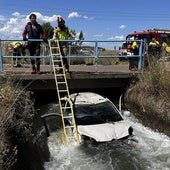
<path fill-rule="evenodd" d="M 44 32 L 42 26 L 36 22 L 36 15 L 31 14 L 29 16 L 30 22 L 28 22 L 25 26 L 24 32 L 22 34 L 23 40 L 28 41 L 28 49 L 30 56 L 40 56 L 40 41 L 30 41 L 30 39 L 40 39 L 42 35 L 42 39 L 46 42 L 47 37 L 46 33 Z M 28 35 L 28 39 L 26 36 Z M 40 58 L 31 58 L 32 64 L 32 74 L 40 73 Z"/>

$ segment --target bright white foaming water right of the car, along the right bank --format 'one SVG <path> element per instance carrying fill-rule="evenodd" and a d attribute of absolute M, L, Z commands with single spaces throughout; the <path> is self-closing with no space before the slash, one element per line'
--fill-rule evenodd
<path fill-rule="evenodd" d="M 170 169 L 170 138 L 143 126 L 132 115 L 129 121 L 134 128 L 140 156 L 149 163 L 148 169 Z"/>

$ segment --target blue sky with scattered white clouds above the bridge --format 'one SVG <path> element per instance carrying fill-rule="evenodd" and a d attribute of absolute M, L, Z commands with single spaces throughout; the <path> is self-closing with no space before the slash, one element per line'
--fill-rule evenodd
<path fill-rule="evenodd" d="M 122 40 L 134 31 L 170 29 L 169 0 L 0 0 L 0 38 L 22 39 L 31 13 L 37 21 L 50 22 L 62 16 L 66 25 L 85 40 Z"/>

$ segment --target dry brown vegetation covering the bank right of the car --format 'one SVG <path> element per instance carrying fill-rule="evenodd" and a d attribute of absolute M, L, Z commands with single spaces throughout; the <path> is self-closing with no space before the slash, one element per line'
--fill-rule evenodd
<path fill-rule="evenodd" d="M 127 90 L 125 101 L 143 124 L 170 136 L 170 72 L 154 62 Z"/>

